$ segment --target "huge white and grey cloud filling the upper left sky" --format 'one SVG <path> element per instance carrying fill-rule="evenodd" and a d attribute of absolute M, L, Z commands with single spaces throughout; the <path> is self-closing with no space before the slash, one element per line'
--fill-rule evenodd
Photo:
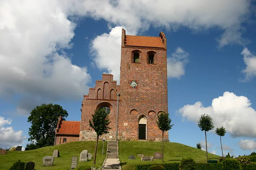
<path fill-rule="evenodd" d="M 31 97 L 29 101 L 41 104 L 60 98 L 78 99 L 87 93 L 87 68 L 73 65 L 62 52 L 72 47 L 76 24 L 67 19 L 67 12 L 58 3 L 0 2 L 0 95 L 22 94 L 25 97 L 21 98 Z M 20 106 L 20 114 L 35 107 Z"/>

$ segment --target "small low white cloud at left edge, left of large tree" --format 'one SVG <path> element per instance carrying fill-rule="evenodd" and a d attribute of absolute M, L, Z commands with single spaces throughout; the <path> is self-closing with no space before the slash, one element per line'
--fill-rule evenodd
<path fill-rule="evenodd" d="M 5 119 L 0 116 L 0 147 L 6 148 L 21 144 L 26 136 L 22 136 L 22 131 L 15 131 L 12 127 L 4 127 L 11 125 L 12 119 Z"/>

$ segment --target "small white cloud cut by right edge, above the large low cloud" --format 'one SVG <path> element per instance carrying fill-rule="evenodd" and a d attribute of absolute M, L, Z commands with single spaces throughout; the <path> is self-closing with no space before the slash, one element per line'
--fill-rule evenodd
<path fill-rule="evenodd" d="M 244 56 L 244 64 L 246 64 L 246 68 L 242 71 L 245 78 L 241 81 L 248 82 L 256 76 L 256 55 L 250 52 L 248 48 L 244 48 L 241 54 Z"/>

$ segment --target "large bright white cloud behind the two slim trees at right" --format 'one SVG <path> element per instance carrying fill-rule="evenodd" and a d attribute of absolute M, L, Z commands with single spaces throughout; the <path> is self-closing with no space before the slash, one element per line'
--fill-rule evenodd
<path fill-rule="evenodd" d="M 225 92 L 213 99 L 211 106 L 204 107 L 202 102 L 196 102 L 184 105 L 177 112 L 183 119 L 195 123 L 205 113 L 212 117 L 215 128 L 223 126 L 233 137 L 256 137 L 256 111 L 250 105 L 247 97 Z"/>

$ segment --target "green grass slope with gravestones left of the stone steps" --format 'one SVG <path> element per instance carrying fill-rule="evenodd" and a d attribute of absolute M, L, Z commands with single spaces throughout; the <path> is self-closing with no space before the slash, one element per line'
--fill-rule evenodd
<path fill-rule="evenodd" d="M 66 144 L 60 144 L 57 146 L 42 147 L 36 150 L 27 150 L 27 151 L 13 151 L 7 152 L 6 155 L 0 155 L 0 169 L 8 170 L 12 164 L 20 159 L 21 161 L 35 162 L 35 169 L 37 170 L 69 170 L 71 165 L 72 156 L 78 157 L 78 166 L 93 164 L 93 160 L 87 162 L 79 162 L 80 153 L 83 150 L 88 150 L 88 153 L 91 153 L 94 156 L 96 141 L 87 141 L 87 142 L 70 142 Z M 58 149 L 60 152 L 60 157 L 54 158 L 52 167 L 43 167 L 43 157 L 52 156 L 53 150 Z M 104 151 L 106 154 L 107 151 L 107 142 L 104 143 Z M 102 155 L 102 142 L 99 141 L 96 164 L 102 165 L 106 155 Z"/>

